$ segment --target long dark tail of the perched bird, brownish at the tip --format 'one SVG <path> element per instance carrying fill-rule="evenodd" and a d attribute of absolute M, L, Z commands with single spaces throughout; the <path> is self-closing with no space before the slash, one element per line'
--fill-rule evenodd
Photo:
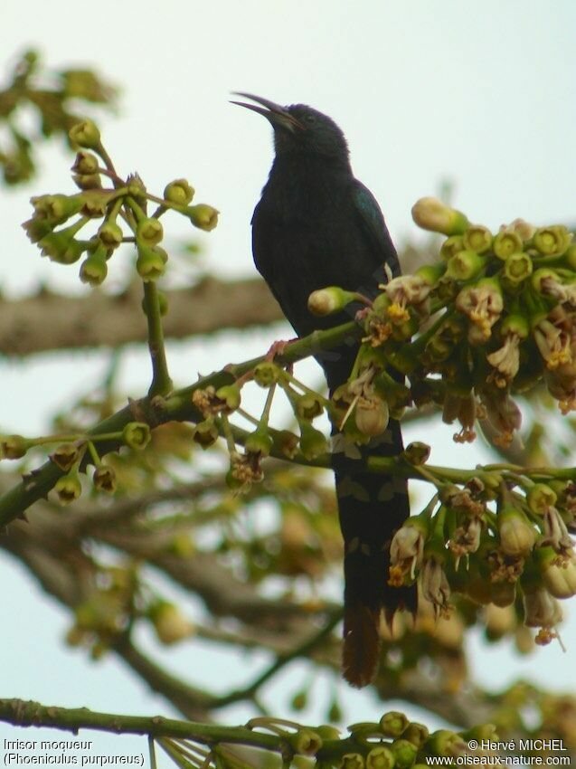
<path fill-rule="evenodd" d="M 326 366 L 332 392 L 346 380 L 341 366 Z M 337 445 L 336 450 L 341 448 Z M 388 584 L 390 543 L 410 515 L 406 479 L 363 470 L 367 456 L 393 456 L 403 449 L 400 423 L 390 420 L 381 436 L 359 447 L 361 458 L 335 451 L 336 497 L 344 537 L 343 673 L 354 687 L 369 684 L 380 656 L 380 618 L 400 608 L 416 611 L 416 588 Z"/>

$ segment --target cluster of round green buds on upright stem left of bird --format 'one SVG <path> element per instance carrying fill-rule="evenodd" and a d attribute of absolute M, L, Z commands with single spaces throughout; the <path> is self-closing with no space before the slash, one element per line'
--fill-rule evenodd
<path fill-rule="evenodd" d="M 218 223 L 215 208 L 191 205 L 194 188 L 185 179 L 166 185 L 159 198 L 146 191 L 139 176 L 120 178 L 92 120 L 72 126 L 69 137 L 73 146 L 80 147 L 71 169 L 80 192 L 33 197 L 33 216 L 23 227 L 42 256 L 60 264 L 73 264 L 82 258 L 82 282 L 99 286 L 108 274 L 110 258 L 123 242 L 136 245 L 136 269 L 142 280 L 160 278 L 168 259 L 160 245 L 164 238 L 160 217 L 168 210 L 184 215 L 206 232 Z M 111 186 L 103 186 L 103 180 Z M 152 214 L 146 211 L 148 203 L 157 204 Z M 88 236 L 84 233 L 90 222 L 99 224 Z"/>

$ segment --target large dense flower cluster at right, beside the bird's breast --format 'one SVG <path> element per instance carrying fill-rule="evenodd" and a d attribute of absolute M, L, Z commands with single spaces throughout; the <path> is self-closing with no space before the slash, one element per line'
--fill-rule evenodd
<path fill-rule="evenodd" d="M 576 408 L 576 243 L 566 227 L 517 219 L 491 233 L 434 198 L 412 215 L 448 236 L 442 260 L 389 280 L 367 302 L 351 378 L 365 366 L 373 374 L 367 392 L 345 385 L 349 403 L 370 403 L 375 393 L 390 407 L 391 388 L 383 393 L 378 375 L 392 367 L 410 383 L 410 394 L 392 387 L 392 403 L 438 403 L 445 422 L 460 423 L 455 441 L 474 440 L 477 419 L 486 419 L 503 446 L 521 425 L 515 394 L 544 383 L 562 413 Z M 311 297 L 318 314 L 356 299 L 334 287 L 324 293 Z M 381 403 L 373 411 L 383 418 Z"/>

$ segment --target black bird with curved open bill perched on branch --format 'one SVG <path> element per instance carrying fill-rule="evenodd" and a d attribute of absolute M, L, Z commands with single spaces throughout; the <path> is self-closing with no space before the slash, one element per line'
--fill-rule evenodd
<path fill-rule="evenodd" d="M 307 299 L 326 286 L 373 298 L 387 280 L 384 265 L 400 274 L 380 207 L 354 178 L 334 120 L 304 104 L 280 107 L 249 93 L 238 96 L 257 104 L 235 104 L 260 113 L 274 129 L 276 157 L 252 217 L 256 267 L 298 337 L 345 323 L 345 313 L 315 317 Z M 348 379 L 357 352 L 356 342 L 318 356 L 331 394 Z M 373 439 L 361 454 L 391 456 L 402 448 L 400 424 L 390 420 L 383 439 Z M 407 483 L 366 472 L 362 464 L 344 451 L 333 453 L 345 543 L 343 669 L 356 687 L 375 675 L 382 609 L 388 622 L 401 607 L 416 609 L 414 588 L 387 584 L 392 535 L 410 514 Z"/>

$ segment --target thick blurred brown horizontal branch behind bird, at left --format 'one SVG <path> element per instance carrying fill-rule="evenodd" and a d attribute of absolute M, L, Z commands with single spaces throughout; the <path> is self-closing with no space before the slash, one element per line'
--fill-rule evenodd
<path fill-rule="evenodd" d="M 282 320 L 260 278 L 232 282 L 206 277 L 189 289 L 167 290 L 166 339 L 251 328 Z M 0 303 L 0 352 L 28 356 L 78 347 L 121 347 L 146 341 L 139 284 L 122 294 L 92 290 L 70 297 L 41 290 Z"/>

